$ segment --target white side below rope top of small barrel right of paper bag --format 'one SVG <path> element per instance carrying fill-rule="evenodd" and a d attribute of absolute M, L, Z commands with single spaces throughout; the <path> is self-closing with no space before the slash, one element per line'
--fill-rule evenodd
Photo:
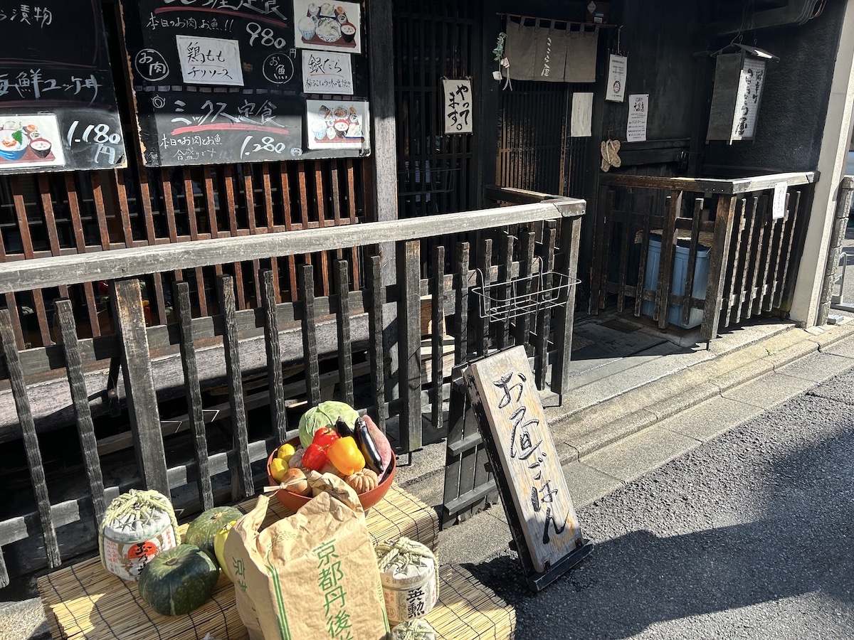
<path fill-rule="evenodd" d="M 418 565 L 393 565 L 380 577 L 385 610 L 391 622 L 420 618 L 436 605 L 439 585 L 436 562 L 432 558 L 422 558 Z"/>

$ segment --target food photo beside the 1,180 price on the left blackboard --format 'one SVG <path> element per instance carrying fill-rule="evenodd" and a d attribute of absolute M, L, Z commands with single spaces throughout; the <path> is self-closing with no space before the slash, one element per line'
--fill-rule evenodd
<path fill-rule="evenodd" d="M 0 168 L 6 165 L 63 165 L 56 119 L 32 116 L 27 119 L 0 119 Z"/>

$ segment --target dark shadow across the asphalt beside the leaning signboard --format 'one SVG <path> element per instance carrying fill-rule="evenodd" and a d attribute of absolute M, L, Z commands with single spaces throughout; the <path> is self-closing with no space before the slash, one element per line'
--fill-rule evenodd
<path fill-rule="evenodd" d="M 599 542 L 539 594 L 527 590 L 515 554 L 466 568 L 517 608 L 517 638 L 629 637 L 655 622 L 812 591 L 845 608 L 854 602 L 852 451 L 848 425 L 763 469 L 755 503 L 743 509 L 752 513 L 738 516 L 757 520 L 664 538 L 636 530 Z M 672 521 L 680 521 L 679 510 Z"/>

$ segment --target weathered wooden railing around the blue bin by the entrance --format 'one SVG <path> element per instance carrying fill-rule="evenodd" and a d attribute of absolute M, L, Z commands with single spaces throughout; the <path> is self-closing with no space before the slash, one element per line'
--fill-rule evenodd
<path fill-rule="evenodd" d="M 719 327 L 787 311 L 814 180 L 812 172 L 730 180 L 601 176 L 591 312 L 629 305 L 661 329 L 700 325 L 700 340 L 708 342 Z"/>

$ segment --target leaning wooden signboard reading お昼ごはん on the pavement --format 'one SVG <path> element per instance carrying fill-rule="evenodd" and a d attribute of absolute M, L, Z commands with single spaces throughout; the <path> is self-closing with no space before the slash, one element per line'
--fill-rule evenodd
<path fill-rule="evenodd" d="M 582 536 L 524 347 L 473 362 L 465 381 L 533 591 L 592 550 Z"/>

